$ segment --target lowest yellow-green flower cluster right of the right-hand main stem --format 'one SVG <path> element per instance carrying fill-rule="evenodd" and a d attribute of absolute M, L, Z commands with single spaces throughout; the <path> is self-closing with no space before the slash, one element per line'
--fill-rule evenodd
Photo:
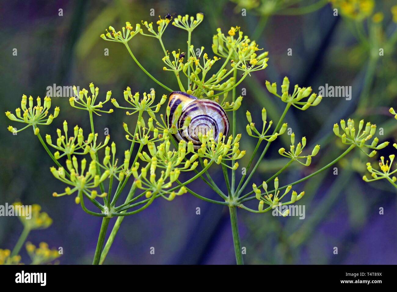
<path fill-rule="evenodd" d="M 262 193 L 262 191 L 260 190 L 261 186 L 262 186 L 263 190 L 265 191 L 264 193 Z M 270 193 L 268 191 L 268 185 L 266 182 L 263 182 L 261 186 L 256 186 L 256 184 L 252 184 L 252 190 L 255 193 L 255 197 L 256 197 L 256 199 L 259 200 L 258 211 L 260 211 L 260 212 L 267 212 L 270 209 L 273 209 L 274 207 L 276 207 L 278 205 L 283 206 L 283 205 L 293 204 L 296 201 L 298 201 L 299 199 L 301 199 L 304 195 L 304 191 L 299 193 L 299 195 L 296 191 L 292 191 L 291 200 L 287 201 L 285 203 L 282 203 L 280 200 L 283 199 L 283 197 L 287 193 L 289 193 L 289 191 L 292 189 L 292 186 L 287 186 L 287 188 L 285 189 L 285 191 L 284 191 L 283 195 L 281 195 L 281 197 L 279 197 L 280 191 L 278 190 L 278 178 L 277 177 L 274 179 L 274 190 L 270 191 Z M 273 193 L 274 193 L 274 195 L 273 195 Z M 264 204 L 268 205 L 269 207 L 267 207 L 266 209 L 263 209 Z M 287 213 L 283 213 L 281 215 L 287 216 L 288 210 L 286 212 Z"/>

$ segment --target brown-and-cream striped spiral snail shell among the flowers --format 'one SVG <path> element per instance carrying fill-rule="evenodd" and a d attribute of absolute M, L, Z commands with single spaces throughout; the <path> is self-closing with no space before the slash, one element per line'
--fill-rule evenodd
<path fill-rule="evenodd" d="M 170 94 L 168 106 L 170 106 L 170 119 L 168 126 L 171 127 L 175 120 L 175 111 L 182 104 L 182 113 L 177 121 L 177 128 L 181 129 L 188 116 L 191 118 L 189 127 L 178 130 L 173 136 L 178 140 L 192 141 L 197 150 L 201 147 L 198 133 L 206 134 L 212 129 L 214 139 L 217 140 L 220 133 L 224 136 L 229 132 L 229 119 L 225 110 L 215 101 L 209 99 L 198 99 L 185 92 L 174 91 Z"/>

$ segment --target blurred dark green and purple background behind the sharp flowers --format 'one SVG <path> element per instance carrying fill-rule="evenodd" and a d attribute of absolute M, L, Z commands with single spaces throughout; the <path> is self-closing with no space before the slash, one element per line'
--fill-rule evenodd
<path fill-rule="evenodd" d="M 319 3 L 318 3 L 319 2 Z M 321 2 L 321 3 L 320 3 Z M 344 2 L 344 1 L 339 1 Z M 346 1 L 345 1 L 346 2 Z M 349 1 L 347 1 L 349 2 Z M 353 1 L 357 2 L 357 1 Z M 358 1 L 360 2 L 360 1 Z M 374 2 L 375 3 L 375 2 Z M 313 5 L 312 5 L 313 4 Z M 280 183 L 293 182 L 339 156 L 345 149 L 332 133 L 332 126 L 341 118 L 364 119 L 384 129 L 381 141 L 394 143 L 397 122 L 388 112 L 396 106 L 397 64 L 395 43 L 387 46 L 396 29 L 392 21 L 394 1 L 377 1 L 368 17 L 333 15 L 327 1 L 13 1 L 1 5 L 1 94 L 2 112 L 20 106 L 23 94 L 44 97 L 47 86 L 78 85 L 88 88 L 90 82 L 100 95 L 112 90 L 112 97 L 121 99 L 123 90 L 132 92 L 156 90 L 156 97 L 167 92 L 154 83 L 133 62 L 125 47 L 103 41 L 99 35 L 112 25 L 116 29 L 130 21 L 155 22 L 158 15 L 170 13 L 205 14 L 204 21 L 193 32 L 192 44 L 204 46 L 212 56 L 212 36 L 216 28 L 227 31 L 238 25 L 249 36 L 254 35 L 260 48 L 269 51 L 269 66 L 247 77 L 237 87 L 247 95 L 237 112 L 237 133 L 243 133 L 240 149 L 252 153 L 256 141 L 245 131 L 246 110 L 260 120 L 260 109 L 278 120 L 284 104 L 270 96 L 265 80 L 282 83 L 288 76 L 291 85 L 312 86 L 318 92 L 326 83 L 352 86 L 352 99 L 324 98 L 320 105 L 306 111 L 293 108 L 286 117 L 296 139 L 306 136 L 308 147 L 321 145 L 320 153 L 309 167 L 293 164 L 279 176 Z M 302 9 L 310 6 L 309 9 Z M 335 6 L 336 7 L 336 6 Z M 338 6 L 340 7 L 340 6 Z M 59 9 L 63 16 L 59 16 Z M 150 16 L 154 9 L 156 16 Z M 242 15 L 246 9 L 246 16 Z M 383 20 L 374 23 L 372 15 L 382 12 Z M 185 48 L 185 31 L 170 25 L 164 35 L 168 50 Z M 389 42 L 390 43 L 390 42 Z M 163 72 L 162 49 L 156 39 L 137 35 L 130 42 L 131 50 L 143 66 L 157 79 L 177 88 L 169 72 Z M 17 56 L 13 56 L 13 49 Z M 104 50 L 109 50 L 105 56 Z M 292 56 L 287 50 L 292 49 Z M 384 56 L 378 56 L 384 48 Z M 60 106 L 60 115 L 50 126 L 40 128 L 55 135 L 64 119 L 69 125 L 89 129 L 88 115 L 69 106 L 67 98 L 54 97 L 53 106 Z M 110 108 L 108 107 L 106 109 Z M 104 135 L 109 129 L 118 149 L 129 148 L 122 122 L 133 124 L 135 116 L 123 110 L 94 117 L 95 129 Z M 11 121 L 0 117 L 0 204 L 21 200 L 38 203 L 53 219 L 46 230 L 31 232 L 34 244 L 48 242 L 50 247 L 64 248 L 60 263 L 91 263 L 100 228 L 100 219 L 91 217 L 76 206 L 71 197 L 52 197 L 63 186 L 52 177 L 47 156 L 31 128 L 12 135 L 7 130 Z M 272 176 L 287 161 L 278 154 L 287 148 L 289 136 L 272 143 L 266 159 L 252 182 Z M 262 145 L 264 147 L 264 145 Z M 395 153 L 393 147 L 380 155 Z M 366 172 L 368 157 L 358 151 L 333 170 L 299 184 L 294 189 L 306 192 L 300 204 L 305 205 L 306 218 L 273 217 L 271 213 L 252 214 L 238 211 L 241 243 L 247 248 L 245 262 L 251 264 L 392 264 L 397 260 L 397 204 L 395 189 L 384 180 L 367 184 L 361 177 Z M 248 163 L 247 155 L 240 166 Z M 378 156 L 372 161 L 377 161 Z M 220 168 L 211 172 L 215 181 L 222 181 Z M 239 178 L 239 176 L 238 176 Z M 197 180 L 191 188 L 216 198 L 209 189 L 203 190 Z M 224 189 L 225 186 L 222 186 Z M 123 194 L 124 196 L 126 194 Z M 247 203 L 256 209 L 256 202 Z M 201 214 L 196 215 L 196 207 Z M 384 215 L 379 215 L 379 208 Z M 111 223 L 112 224 L 112 223 Z M 15 217 L 0 217 L 0 248 L 12 249 L 22 230 Z M 338 255 L 333 247 L 338 247 Z M 150 247 L 156 248 L 150 255 Z M 23 251 L 22 261 L 27 258 Z M 212 205 L 186 194 L 173 202 L 156 200 L 147 210 L 126 217 L 106 263 L 121 264 L 228 264 L 234 263 L 233 242 L 227 208 Z"/>

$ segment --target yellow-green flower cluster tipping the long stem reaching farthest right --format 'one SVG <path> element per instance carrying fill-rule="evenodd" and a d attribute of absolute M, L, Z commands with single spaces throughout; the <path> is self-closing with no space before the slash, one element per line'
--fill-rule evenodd
<path fill-rule="evenodd" d="M 335 135 L 341 138 L 342 143 L 346 145 L 357 146 L 363 153 L 365 153 L 369 157 L 374 157 L 377 152 L 373 150 L 370 154 L 367 154 L 363 150 L 364 147 L 369 149 L 380 150 L 386 147 L 387 145 L 389 145 L 389 142 L 387 141 L 378 145 L 379 139 L 377 137 L 375 137 L 372 140 L 371 144 L 365 144 L 366 141 L 372 139 L 372 137 L 375 135 L 376 132 L 375 124 L 371 124 L 370 122 L 368 122 L 366 123 L 364 128 L 364 120 L 360 120 L 358 124 L 357 133 L 356 133 L 354 120 L 352 119 L 347 120 L 347 125 L 345 123 L 345 120 L 341 120 L 340 125 L 344 133 L 342 135 L 339 134 L 338 124 L 333 125 L 333 132 L 335 133 Z"/>

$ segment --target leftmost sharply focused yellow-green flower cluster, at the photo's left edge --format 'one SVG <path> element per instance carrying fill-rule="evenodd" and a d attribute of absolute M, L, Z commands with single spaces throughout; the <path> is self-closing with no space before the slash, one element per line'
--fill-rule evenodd
<path fill-rule="evenodd" d="M 15 114 L 16 116 L 12 113 L 7 111 L 6 116 L 10 120 L 14 122 L 21 122 L 24 124 L 27 124 L 27 126 L 17 130 L 16 128 L 13 128 L 12 126 L 8 127 L 8 130 L 12 133 L 18 133 L 19 131 L 25 130 L 26 128 L 33 126 L 33 131 L 35 132 L 35 135 L 39 133 L 39 128 L 37 127 L 38 125 L 49 125 L 52 123 L 52 120 L 56 118 L 59 114 L 59 107 L 56 106 L 54 110 L 54 114 L 50 114 L 48 116 L 48 110 L 50 110 L 51 107 L 51 98 L 46 96 L 44 97 L 44 102 L 41 104 L 41 99 L 40 97 L 37 97 L 36 99 L 36 105 L 33 106 L 33 97 L 29 96 L 29 104 L 27 102 L 27 96 L 23 95 L 22 96 L 22 101 L 21 101 L 21 108 L 15 109 Z M 29 106 L 29 107 L 27 107 Z M 21 114 L 21 109 L 22 109 L 22 114 Z"/>

